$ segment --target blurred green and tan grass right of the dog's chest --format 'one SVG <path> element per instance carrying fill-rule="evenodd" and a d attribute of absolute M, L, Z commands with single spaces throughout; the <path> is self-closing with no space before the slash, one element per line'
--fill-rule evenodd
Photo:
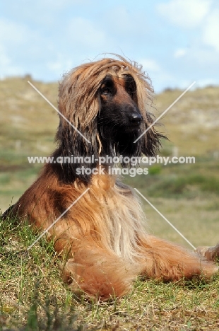
<path fill-rule="evenodd" d="M 136 187 L 194 245 L 218 243 L 218 161 L 196 158 L 194 164 L 153 165 L 148 175 L 124 181 Z M 181 245 L 182 239 L 147 202 L 148 231 Z"/>

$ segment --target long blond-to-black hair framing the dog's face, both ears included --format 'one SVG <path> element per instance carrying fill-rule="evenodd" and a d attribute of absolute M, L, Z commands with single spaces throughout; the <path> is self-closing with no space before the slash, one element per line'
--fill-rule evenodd
<path fill-rule="evenodd" d="M 56 136 L 58 149 L 54 152 L 55 157 L 82 156 L 83 158 L 91 158 L 93 156 L 93 159 L 97 159 L 101 155 L 118 155 L 119 153 L 124 153 L 127 156 L 140 156 L 141 153 L 154 156 L 159 150 L 160 139 L 165 138 L 165 136 L 157 132 L 154 127 L 139 139 L 138 144 L 132 142 L 137 137 L 130 137 L 129 141 L 127 139 L 122 141 L 122 147 L 121 145 L 110 144 L 110 135 L 105 141 L 100 139 L 100 128 L 97 128 L 97 116 L 100 112 L 98 91 L 102 80 L 108 73 L 114 76 L 126 74 L 133 76 L 136 82 L 137 105 L 145 122 L 142 132 L 153 122 L 153 118 L 148 113 L 148 108 L 153 100 L 153 87 L 148 75 L 136 62 L 130 62 L 120 56 L 117 58 L 119 60 L 106 58 L 97 62 L 82 64 L 64 76 L 64 80 L 59 86 L 59 111 L 90 143 L 60 116 Z M 54 167 L 58 168 L 59 177 L 64 182 L 72 182 L 76 178 L 89 182 L 90 175 L 85 169 L 90 168 L 92 170 L 96 166 L 97 163 L 79 161 L 76 163 L 63 162 Z M 82 168 L 84 171 L 80 172 Z"/>

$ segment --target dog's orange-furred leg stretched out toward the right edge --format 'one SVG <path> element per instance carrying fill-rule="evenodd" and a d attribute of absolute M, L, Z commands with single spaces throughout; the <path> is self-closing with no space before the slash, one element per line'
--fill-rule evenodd
<path fill-rule="evenodd" d="M 144 277 L 164 281 L 177 281 L 183 277 L 210 279 L 218 272 L 218 267 L 213 262 L 160 238 L 148 236 L 147 240 L 141 242 L 141 248 L 144 250 L 141 272 Z"/>

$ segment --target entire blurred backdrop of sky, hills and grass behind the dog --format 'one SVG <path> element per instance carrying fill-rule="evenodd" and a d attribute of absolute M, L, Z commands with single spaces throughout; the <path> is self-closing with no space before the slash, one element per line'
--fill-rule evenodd
<path fill-rule="evenodd" d="M 0 4 L 0 208 L 37 178 L 28 156 L 55 149 L 58 81 L 73 66 L 105 53 L 143 65 L 158 117 L 194 81 L 159 127 L 162 156 L 195 164 L 155 164 L 126 177 L 194 245 L 219 240 L 219 3 L 216 0 L 8 0 Z M 148 231 L 184 240 L 146 202 Z"/>

